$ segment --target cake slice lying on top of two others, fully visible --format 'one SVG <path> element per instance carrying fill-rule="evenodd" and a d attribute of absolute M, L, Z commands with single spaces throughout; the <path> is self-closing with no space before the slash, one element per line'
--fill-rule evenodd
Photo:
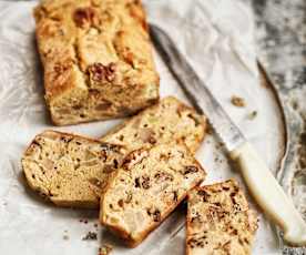
<path fill-rule="evenodd" d="M 134 247 L 204 177 L 184 144 L 133 151 L 101 196 L 100 221 Z"/>

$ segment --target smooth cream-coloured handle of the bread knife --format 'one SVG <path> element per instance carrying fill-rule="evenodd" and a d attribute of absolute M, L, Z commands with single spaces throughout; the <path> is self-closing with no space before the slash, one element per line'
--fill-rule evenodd
<path fill-rule="evenodd" d="M 231 152 L 243 177 L 262 210 L 284 231 L 284 239 L 292 245 L 306 244 L 306 224 L 276 178 L 249 143 Z"/>

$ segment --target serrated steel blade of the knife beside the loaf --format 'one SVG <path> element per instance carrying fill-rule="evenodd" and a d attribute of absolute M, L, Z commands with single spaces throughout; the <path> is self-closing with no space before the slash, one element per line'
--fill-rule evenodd
<path fill-rule="evenodd" d="M 246 142 L 242 132 L 231 121 L 217 100 L 212 95 L 206 84 L 198 78 L 186 58 L 178 52 L 174 43 L 157 27 L 152 26 L 152 39 L 162 57 L 175 75 L 188 98 L 204 111 L 210 123 L 221 136 L 228 151 Z M 185 85 L 187 84 L 187 85 Z"/>

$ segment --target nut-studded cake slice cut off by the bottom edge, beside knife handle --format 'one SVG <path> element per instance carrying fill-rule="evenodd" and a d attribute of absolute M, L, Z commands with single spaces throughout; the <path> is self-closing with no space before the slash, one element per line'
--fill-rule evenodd
<path fill-rule="evenodd" d="M 187 255 L 251 254 L 257 217 L 237 182 L 196 187 L 187 197 Z"/>

